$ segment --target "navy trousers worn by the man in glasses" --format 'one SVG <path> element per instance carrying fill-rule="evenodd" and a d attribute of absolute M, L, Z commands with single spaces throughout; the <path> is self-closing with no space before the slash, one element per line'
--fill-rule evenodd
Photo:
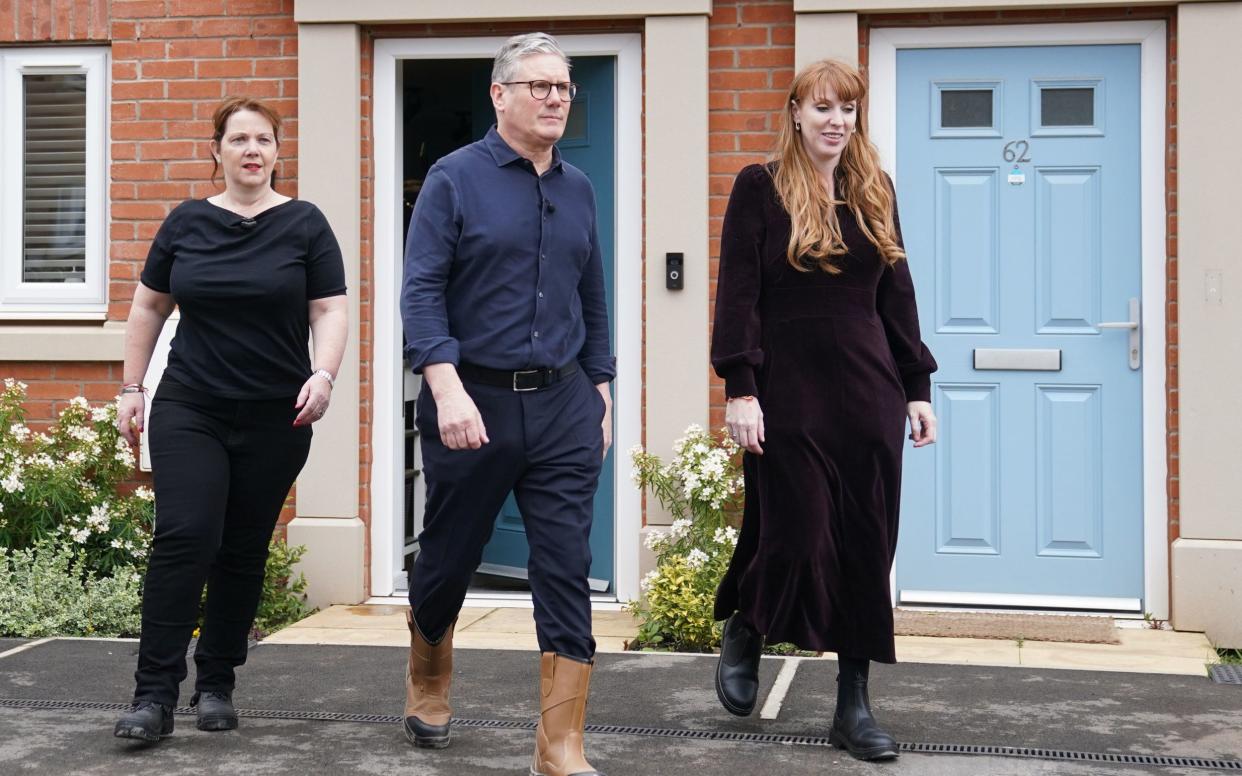
<path fill-rule="evenodd" d="M 491 440 L 479 449 L 445 447 L 426 384 L 419 395 L 427 504 L 410 572 L 415 622 L 437 642 L 457 618 L 512 490 L 530 546 L 527 571 L 539 648 L 589 659 L 595 654 L 589 540 L 604 463 L 604 399 L 581 371 L 538 391 L 473 382 L 466 391 Z"/>

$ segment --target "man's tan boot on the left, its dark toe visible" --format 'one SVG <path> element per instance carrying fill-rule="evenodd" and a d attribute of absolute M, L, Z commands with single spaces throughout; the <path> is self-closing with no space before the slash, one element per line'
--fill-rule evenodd
<path fill-rule="evenodd" d="M 438 644 L 428 644 L 406 610 L 410 627 L 410 661 L 405 667 L 405 738 L 415 746 L 448 746 L 448 728 L 453 718 L 448 705 L 448 685 L 453 678 L 453 626 L 448 626 Z"/>

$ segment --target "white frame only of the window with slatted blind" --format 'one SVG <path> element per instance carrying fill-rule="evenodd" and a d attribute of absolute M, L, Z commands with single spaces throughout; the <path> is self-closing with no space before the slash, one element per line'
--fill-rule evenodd
<path fill-rule="evenodd" d="M 21 281 L 22 76 L 86 74 L 86 282 Z M 0 48 L 0 319 L 103 319 L 108 312 L 108 50 Z"/>

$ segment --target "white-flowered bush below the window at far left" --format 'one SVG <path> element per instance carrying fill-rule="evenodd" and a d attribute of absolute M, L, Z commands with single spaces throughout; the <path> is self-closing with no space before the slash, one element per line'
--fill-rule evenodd
<path fill-rule="evenodd" d="M 47 432 L 26 426 L 26 385 L 0 392 L 0 545 L 72 544 L 81 567 L 103 577 L 145 565 L 155 497 L 118 490 L 134 453 L 117 431 L 114 404 L 91 407 L 81 396 Z"/>

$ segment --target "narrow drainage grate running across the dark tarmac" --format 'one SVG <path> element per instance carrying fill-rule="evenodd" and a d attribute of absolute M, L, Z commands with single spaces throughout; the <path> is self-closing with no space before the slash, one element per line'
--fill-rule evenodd
<path fill-rule="evenodd" d="M 91 703 L 79 700 L 26 700 L 0 698 L 0 709 L 48 709 L 65 711 L 127 711 L 124 703 Z M 179 706 L 176 714 L 190 715 L 194 709 Z M 322 723 L 379 723 L 395 725 L 400 716 L 391 714 L 345 714 L 340 711 L 289 711 L 277 709 L 238 709 L 246 719 L 283 719 Z M 458 728 L 487 730 L 534 730 L 533 721 L 499 719 L 455 719 Z M 737 733 L 728 730 L 678 730 L 671 728 L 641 728 L 632 725 L 586 725 L 586 733 L 606 735 L 642 735 L 662 739 L 691 739 L 699 741 L 738 741 L 746 744 L 781 744 L 785 746 L 831 746 L 825 736 L 781 735 L 768 733 Z M 1242 772 L 1242 760 L 1207 760 L 1205 757 L 1172 757 L 1167 755 L 1119 755 L 1094 751 L 1067 751 L 1063 749 L 1031 749 L 1026 746 L 979 746 L 965 744 L 899 744 L 903 752 L 920 755 L 982 755 L 990 757 L 1026 757 L 1033 760 L 1062 760 L 1072 762 L 1109 762 L 1117 765 L 1148 765 L 1155 767 L 1207 769 Z"/>

